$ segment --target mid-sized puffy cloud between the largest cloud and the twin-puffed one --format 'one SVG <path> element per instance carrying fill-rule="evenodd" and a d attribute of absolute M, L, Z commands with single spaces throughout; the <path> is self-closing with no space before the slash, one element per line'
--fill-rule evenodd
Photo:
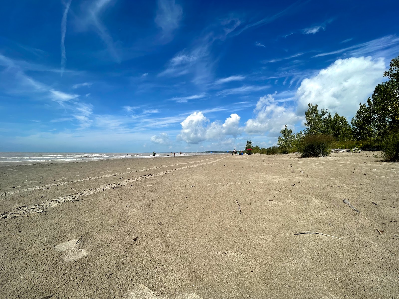
<path fill-rule="evenodd" d="M 300 120 L 291 106 L 279 105 L 275 101 L 275 94 L 268 94 L 259 98 L 254 110 L 256 117 L 247 120 L 245 132 L 248 134 L 277 133 L 287 124 L 293 128 Z"/>

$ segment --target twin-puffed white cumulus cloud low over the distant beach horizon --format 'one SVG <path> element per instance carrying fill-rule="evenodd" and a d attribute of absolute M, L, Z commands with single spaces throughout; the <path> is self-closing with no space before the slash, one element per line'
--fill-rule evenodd
<path fill-rule="evenodd" d="M 209 119 L 201 111 L 194 112 L 180 123 L 182 131 L 176 138 L 189 144 L 198 144 L 205 140 L 218 140 L 220 142 L 229 135 L 235 138 L 242 132 L 242 128 L 239 126 L 240 119 L 238 114 L 233 113 L 226 118 L 223 124 L 218 120 L 209 123 Z"/>

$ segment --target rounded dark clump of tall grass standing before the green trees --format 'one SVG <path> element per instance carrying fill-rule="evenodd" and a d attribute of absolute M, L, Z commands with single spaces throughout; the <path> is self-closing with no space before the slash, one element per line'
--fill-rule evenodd
<path fill-rule="evenodd" d="M 326 157 L 330 154 L 330 145 L 334 138 L 327 135 L 308 135 L 302 138 L 299 146 L 301 158 Z"/>

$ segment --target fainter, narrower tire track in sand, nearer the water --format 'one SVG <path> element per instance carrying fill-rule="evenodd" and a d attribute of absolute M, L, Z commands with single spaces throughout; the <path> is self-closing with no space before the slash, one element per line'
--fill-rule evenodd
<path fill-rule="evenodd" d="M 190 163 L 198 163 L 198 162 L 203 162 L 203 161 L 207 161 L 207 160 L 215 159 L 215 158 L 217 158 L 217 157 L 212 157 L 212 158 L 209 158 L 209 159 L 203 159 L 203 160 L 193 161 L 193 162 L 175 163 L 175 164 L 171 164 L 171 165 L 162 165 L 162 166 L 156 166 L 156 167 L 150 167 L 150 168 L 144 168 L 144 169 L 137 169 L 137 170 L 132 170 L 132 171 L 128 171 L 128 172 L 110 173 L 110 174 L 107 174 L 107 175 L 101 175 L 101 176 L 98 176 L 98 177 L 87 177 L 85 179 L 77 179 L 77 180 L 74 180 L 74 181 L 52 183 L 52 184 L 48 184 L 48 185 L 40 185 L 40 186 L 27 188 L 27 189 L 22 189 L 22 190 L 3 192 L 3 193 L 0 193 L 0 197 L 1 196 L 8 196 L 8 195 L 12 195 L 12 194 L 15 194 L 15 193 L 20 193 L 20 192 L 27 192 L 27 191 L 34 191 L 34 190 L 45 190 L 45 189 L 49 189 L 51 187 L 66 185 L 66 184 L 70 184 L 70 183 L 78 183 L 78 182 L 83 182 L 83 181 L 93 181 L 95 179 L 102 179 L 104 177 L 113 177 L 113 176 L 117 176 L 117 175 L 126 175 L 126 174 L 134 173 L 134 172 L 147 171 L 147 170 L 152 170 L 152 169 L 160 169 L 160 168 L 164 168 L 164 167 L 173 167 L 173 166 L 190 164 Z"/>

